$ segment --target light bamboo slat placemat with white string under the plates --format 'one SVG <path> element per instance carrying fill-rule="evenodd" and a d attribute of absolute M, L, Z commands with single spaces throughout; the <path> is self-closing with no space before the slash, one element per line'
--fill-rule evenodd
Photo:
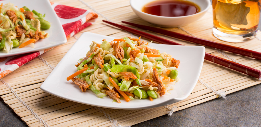
<path fill-rule="evenodd" d="M 75 37 L 71 37 L 66 44 L 44 53 L 1 79 L 1 98 L 29 126 L 131 126 L 168 114 L 170 110 L 175 112 L 215 99 L 218 97 L 217 93 L 220 92 L 218 90 L 225 91 L 225 94 L 230 94 L 261 83 L 256 78 L 209 61 L 204 61 L 199 82 L 190 96 L 185 100 L 165 107 L 143 110 L 118 110 L 79 104 L 50 95 L 42 91 L 40 85 L 83 32 L 88 31 L 118 38 L 131 36 L 127 32 L 103 23 L 102 20 L 104 19 L 111 20 L 114 23 L 129 21 L 153 26 L 133 13 L 129 5 L 129 0 L 51 0 L 51 2 L 87 10 L 93 9 L 93 11 L 99 12 L 102 15 L 99 15 L 94 25 L 77 33 Z M 261 38 L 260 31 L 257 33 L 257 38 L 244 43 L 228 43 L 215 38 L 212 34 L 211 8 L 204 17 L 194 23 L 181 28 L 163 29 L 254 51 L 261 51 L 261 41 L 258 39 Z M 142 29 L 139 30 L 144 31 Z M 196 45 L 149 31 L 146 32 L 183 45 Z M 142 39 L 149 41 L 144 38 Z M 217 51 L 209 47 L 206 47 L 206 52 L 225 59 L 234 60 L 252 68 L 261 69 L 260 61 L 249 57 L 242 57 L 241 55 L 225 51 Z"/>

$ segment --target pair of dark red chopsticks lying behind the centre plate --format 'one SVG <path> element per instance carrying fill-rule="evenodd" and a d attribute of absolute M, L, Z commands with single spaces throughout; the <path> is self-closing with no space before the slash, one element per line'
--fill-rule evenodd
<path fill-rule="evenodd" d="M 167 39 L 163 39 L 163 38 L 160 38 L 160 37 L 157 37 L 157 36 L 142 32 L 142 31 L 138 31 L 138 30 L 135 30 L 135 29 L 123 26 L 123 25 L 118 25 L 116 23 L 112 23 L 112 22 L 108 22 L 108 21 L 104 21 L 104 20 L 103 20 L 103 22 L 108 23 L 110 25 L 113 25 L 115 27 L 121 28 L 123 30 L 129 31 L 131 33 L 137 34 L 139 36 L 145 37 L 145 38 L 150 39 L 152 41 L 156 41 L 156 42 L 161 43 L 161 44 L 181 45 L 179 43 L 175 43 L 173 41 L 169 41 Z M 134 24 L 134 23 L 128 23 L 128 22 L 124 22 L 124 21 L 122 21 L 122 22 L 129 24 L 129 25 L 133 25 L 133 26 L 142 28 L 142 29 L 150 30 L 150 31 L 153 31 L 153 32 L 156 32 L 156 33 L 161 33 L 161 34 L 168 35 L 168 36 L 175 37 L 175 38 L 179 38 L 179 39 L 182 39 L 182 40 L 206 45 L 206 46 L 209 46 L 209 47 L 213 47 L 213 48 L 217 48 L 217 49 L 221 49 L 221 50 L 225 50 L 225 51 L 229 51 L 229 52 L 232 52 L 232 53 L 237 53 L 237 54 L 240 54 L 240 55 L 253 57 L 253 58 L 261 60 L 261 53 L 256 52 L 256 51 L 251 51 L 251 50 L 248 50 L 248 49 L 243 49 L 243 48 L 239 48 L 239 47 L 233 47 L 233 46 L 230 46 L 230 45 L 220 44 L 220 43 L 216 43 L 216 42 L 213 42 L 213 41 L 200 39 L 200 38 L 196 38 L 196 37 L 192 37 L 192 36 L 188 36 L 188 35 L 183 35 L 183 34 L 171 32 L 171 31 L 166 31 L 166 30 L 162 30 L 162 29 L 157 29 L 157 28 L 153 28 L 153 27 L 138 25 L 138 24 Z M 211 55 L 209 53 L 205 53 L 204 59 L 211 61 L 213 63 L 217 63 L 219 65 L 231 68 L 231 69 L 236 70 L 238 72 L 242 72 L 244 74 L 253 76 L 255 78 L 261 79 L 261 71 L 260 70 L 257 70 L 257 69 L 239 64 L 239 63 L 235 63 L 233 61 L 229 61 L 229 60 L 223 59 L 221 57 Z"/>

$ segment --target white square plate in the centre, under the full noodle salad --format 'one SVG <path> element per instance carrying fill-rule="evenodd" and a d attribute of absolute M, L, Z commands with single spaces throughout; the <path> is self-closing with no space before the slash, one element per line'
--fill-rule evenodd
<path fill-rule="evenodd" d="M 152 43 L 150 47 L 154 47 L 154 49 L 158 49 L 161 52 L 169 53 L 175 59 L 180 60 L 178 67 L 178 77 L 180 77 L 180 81 L 176 82 L 174 90 L 169 90 L 169 92 L 171 92 L 170 94 L 166 93 L 153 101 L 149 99 L 133 99 L 129 102 L 121 100 L 121 103 L 118 103 L 112 102 L 112 99 L 108 96 L 98 98 L 91 90 L 82 92 L 77 85 L 71 80 L 67 81 L 66 78 L 77 71 L 75 64 L 77 64 L 80 58 L 85 57 L 90 49 L 89 45 L 91 42 L 96 41 L 102 43 L 103 39 L 110 42 L 115 38 L 88 32 L 83 33 L 46 78 L 40 88 L 52 95 L 92 106 L 115 109 L 144 109 L 165 106 L 184 100 L 195 87 L 203 65 L 205 47 Z"/>

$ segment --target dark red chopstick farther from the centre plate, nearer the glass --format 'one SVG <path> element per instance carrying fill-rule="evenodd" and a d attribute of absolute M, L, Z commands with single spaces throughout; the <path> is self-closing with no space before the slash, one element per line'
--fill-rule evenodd
<path fill-rule="evenodd" d="M 142 28 L 142 29 L 153 31 L 153 32 L 160 33 L 160 34 L 163 34 L 163 35 L 175 37 L 175 38 L 182 39 L 182 40 L 185 40 L 185 41 L 190 41 L 190 42 L 194 42 L 194 43 L 197 43 L 197 44 L 206 45 L 206 46 L 209 46 L 209 47 L 213 47 L 213 48 L 229 51 L 231 53 L 236 53 L 236 54 L 240 54 L 240 55 L 243 55 L 243 56 L 253 57 L 255 59 L 261 60 L 261 53 L 260 52 L 256 52 L 256 51 L 252 51 L 252 50 L 248 50 L 248 49 L 243 49 L 243 48 L 239 48 L 239 47 L 235 47 L 235 46 L 231 46 L 231 45 L 225 45 L 225 44 L 217 43 L 217 42 L 214 42 L 214 41 L 209 41 L 209 40 L 206 40 L 206 39 L 201 39 L 201 38 L 197 38 L 197 37 L 193 37 L 193 36 L 189 36 L 189 35 L 184 35 L 184 34 L 181 34 L 181 33 L 176 33 L 176 32 L 172 32 L 172 31 L 167 31 L 167 30 L 158 29 L 158 28 L 149 27 L 149 26 L 144 26 L 144 25 L 139 25 L 139 24 L 135 24 L 135 23 L 129 23 L 129 22 L 125 22 L 125 21 L 122 21 L 122 23 L 126 23 L 126 24 L 129 24 L 129 25 L 138 27 L 138 28 Z"/>

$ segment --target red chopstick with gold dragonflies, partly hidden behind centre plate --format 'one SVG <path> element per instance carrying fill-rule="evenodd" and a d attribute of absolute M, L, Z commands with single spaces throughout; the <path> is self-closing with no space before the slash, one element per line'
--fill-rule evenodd
<path fill-rule="evenodd" d="M 112 22 L 108 22 L 108 21 L 104 21 L 104 20 L 103 20 L 103 22 L 108 23 L 110 25 L 113 25 L 115 27 L 121 28 L 123 30 L 129 31 L 131 33 L 137 34 L 139 36 L 145 37 L 147 39 L 156 41 L 156 42 L 161 43 L 161 44 L 181 45 L 181 44 L 175 43 L 173 41 L 169 41 L 167 39 L 163 39 L 163 38 L 160 38 L 160 37 L 148 34 L 148 33 L 144 33 L 144 32 L 141 32 L 141 31 L 129 28 L 129 27 L 122 26 L 122 25 L 118 25 L 116 23 L 112 23 Z M 254 68 L 251 68 L 251 67 L 239 64 L 239 63 L 235 63 L 233 61 L 229 61 L 229 60 L 226 60 L 226 59 L 223 59 L 223 58 L 211 55 L 209 53 L 205 53 L 205 58 L 204 59 L 208 60 L 208 61 L 211 61 L 211 62 L 214 62 L 214 63 L 217 63 L 217 64 L 220 64 L 222 66 L 231 68 L 231 69 L 236 70 L 238 72 L 242 72 L 244 74 L 253 76 L 255 78 L 261 79 L 261 71 L 260 70 L 257 70 L 257 69 L 254 69 Z"/>

